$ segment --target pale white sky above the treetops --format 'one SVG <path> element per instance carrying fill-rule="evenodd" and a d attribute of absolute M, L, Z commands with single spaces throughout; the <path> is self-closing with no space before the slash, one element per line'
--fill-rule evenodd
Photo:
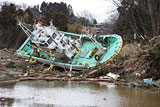
<path fill-rule="evenodd" d="M 111 2 L 112 0 L 0 0 L 0 2 L 3 1 L 10 1 L 16 4 L 25 3 L 31 6 L 41 4 L 43 1 L 64 2 L 72 6 L 75 15 L 87 10 L 93 14 L 99 23 L 107 20 L 109 15 L 113 14 L 113 11 L 116 11 L 116 7 Z"/>

